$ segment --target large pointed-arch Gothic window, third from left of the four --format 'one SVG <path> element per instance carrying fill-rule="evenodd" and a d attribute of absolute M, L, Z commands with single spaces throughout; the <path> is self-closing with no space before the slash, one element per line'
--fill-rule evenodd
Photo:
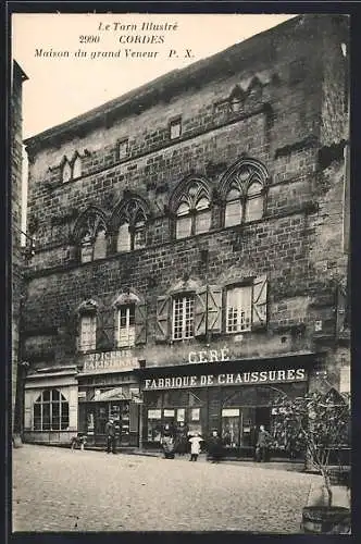
<path fill-rule="evenodd" d="M 206 233 L 211 228 L 210 196 L 200 181 L 192 181 L 178 197 L 176 208 L 176 239 Z"/>

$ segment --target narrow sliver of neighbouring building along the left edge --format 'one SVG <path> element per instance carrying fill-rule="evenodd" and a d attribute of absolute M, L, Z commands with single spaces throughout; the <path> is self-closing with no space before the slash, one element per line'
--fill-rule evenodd
<path fill-rule="evenodd" d="M 24 290 L 24 262 L 22 252 L 22 190 L 23 190 L 23 83 L 27 79 L 16 61 L 12 63 L 11 89 L 11 237 L 12 237 L 12 321 L 11 321 L 11 384 L 12 384 L 12 432 L 18 434 L 22 430 L 22 403 L 16 398 L 21 393 L 20 375 L 20 319 L 21 304 Z M 15 404 L 17 409 L 15 411 Z"/>

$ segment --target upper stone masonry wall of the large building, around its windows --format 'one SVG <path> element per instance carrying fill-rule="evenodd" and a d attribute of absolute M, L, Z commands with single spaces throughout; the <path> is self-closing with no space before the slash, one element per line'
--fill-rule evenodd
<path fill-rule="evenodd" d="M 306 15 L 166 76 L 178 85 L 155 81 L 135 91 L 125 113 L 126 100 L 114 102 L 112 113 L 104 104 L 102 120 L 97 110 L 83 124 L 74 120 L 67 133 L 67 125 L 54 127 L 52 136 L 28 143 L 28 223 L 37 252 L 27 274 L 24 321 L 34 364 L 74 358 L 78 305 L 97 300 L 102 321 L 109 321 L 111 305 L 125 288 L 146 301 L 147 348 L 141 349 L 153 354 L 154 364 L 176 361 L 174 347 L 155 342 L 157 298 L 185 274 L 214 285 L 232 274 L 266 274 L 267 330 L 246 335 L 248 355 L 256 353 L 251 344 L 262 356 L 311 349 L 320 320 L 323 333 L 332 334 L 335 288 L 346 274 L 344 162 L 337 154 L 325 160 L 324 150 L 340 139 L 333 118 L 343 119 L 344 111 L 343 39 L 341 17 Z M 327 54 L 335 77 L 324 62 Z M 229 109 L 235 94 L 238 111 Z M 173 140 L 170 123 L 178 115 L 182 134 Z M 123 159 L 117 149 L 124 138 L 128 156 Z M 63 161 L 77 153 L 82 175 L 62 183 Z M 217 195 L 227 170 L 242 157 L 269 172 L 264 215 L 225 228 Z M 204 180 L 211 189 L 211 230 L 174 240 L 170 208 L 187 176 Z M 96 207 L 111 225 L 129 190 L 151 211 L 147 247 L 116 254 L 109 236 L 107 257 L 80 264 L 73 247 L 79 214 Z"/>

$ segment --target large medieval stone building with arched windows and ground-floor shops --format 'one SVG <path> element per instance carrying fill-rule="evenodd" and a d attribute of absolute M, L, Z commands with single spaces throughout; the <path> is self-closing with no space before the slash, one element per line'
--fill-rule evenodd
<path fill-rule="evenodd" d="M 302 15 L 26 141 L 26 440 L 247 453 L 278 390 L 339 387 L 348 35 Z"/>

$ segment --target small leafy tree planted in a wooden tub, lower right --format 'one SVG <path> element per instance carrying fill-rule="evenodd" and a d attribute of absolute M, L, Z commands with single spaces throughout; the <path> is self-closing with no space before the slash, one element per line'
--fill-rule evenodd
<path fill-rule="evenodd" d="M 326 505 L 307 506 L 302 511 L 304 532 L 344 533 L 350 528 L 349 508 L 333 504 L 333 484 L 348 482 L 341 453 L 349 446 L 349 397 L 331 388 L 289 398 L 279 392 L 272 404 L 273 438 L 276 447 L 306 455 L 306 468 L 323 478 Z M 336 465 L 336 467 L 335 467 Z M 349 469 L 349 467 L 348 467 Z M 335 481 L 336 479 L 336 481 Z"/>

